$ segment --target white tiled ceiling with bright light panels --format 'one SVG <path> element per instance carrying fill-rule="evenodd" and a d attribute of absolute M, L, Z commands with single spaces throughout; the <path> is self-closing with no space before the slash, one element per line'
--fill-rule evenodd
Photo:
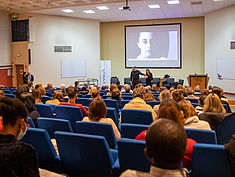
<path fill-rule="evenodd" d="M 48 15 L 60 15 L 76 18 L 95 19 L 103 22 L 143 20 L 159 18 L 195 17 L 235 5 L 235 0 L 179 0 L 179 4 L 169 5 L 167 0 L 132 0 L 129 2 L 131 11 L 120 10 L 125 5 L 124 0 L 0 0 L 0 9 L 10 12 L 30 12 Z M 202 1 L 199 5 L 191 2 Z M 148 5 L 159 4 L 159 9 L 150 9 Z M 105 5 L 108 10 L 99 10 L 98 5 Z M 62 12 L 62 9 L 72 9 L 73 13 Z M 86 14 L 83 10 L 93 10 Z"/>

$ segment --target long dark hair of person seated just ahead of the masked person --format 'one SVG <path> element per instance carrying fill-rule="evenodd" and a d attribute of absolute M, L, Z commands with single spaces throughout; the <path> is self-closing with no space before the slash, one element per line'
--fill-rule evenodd
<path fill-rule="evenodd" d="M 25 104 L 29 113 L 36 110 L 35 100 L 31 93 L 22 93 L 19 96 L 19 100 Z"/>

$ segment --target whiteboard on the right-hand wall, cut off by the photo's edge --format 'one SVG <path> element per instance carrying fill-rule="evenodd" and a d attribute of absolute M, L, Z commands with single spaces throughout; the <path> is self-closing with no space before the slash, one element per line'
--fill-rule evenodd
<path fill-rule="evenodd" d="M 222 79 L 235 80 L 235 59 L 218 58 L 216 68 L 217 74 L 219 74 Z"/>

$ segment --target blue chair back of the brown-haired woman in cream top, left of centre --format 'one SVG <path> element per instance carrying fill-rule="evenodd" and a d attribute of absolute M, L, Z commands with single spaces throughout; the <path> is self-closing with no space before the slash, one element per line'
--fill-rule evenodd
<path fill-rule="evenodd" d="M 114 149 L 117 145 L 116 138 L 111 124 L 100 122 L 76 122 L 77 133 L 99 135 L 105 137 L 109 147 Z"/>

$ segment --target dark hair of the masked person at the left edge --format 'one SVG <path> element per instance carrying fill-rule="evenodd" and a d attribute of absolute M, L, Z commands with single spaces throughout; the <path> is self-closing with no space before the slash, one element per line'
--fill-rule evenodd
<path fill-rule="evenodd" d="M 3 126 L 14 126 L 18 119 L 28 117 L 28 111 L 20 100 L 0 97 L 0 116 L 2 117 Z"/>

